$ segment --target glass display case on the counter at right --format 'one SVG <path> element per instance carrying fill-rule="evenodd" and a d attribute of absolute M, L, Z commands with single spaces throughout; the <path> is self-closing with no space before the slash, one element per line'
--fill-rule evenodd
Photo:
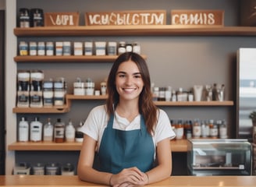
<path fill-rule="evenodd" d="M 247 139 L 189 139 L 190 175 L 251 175 L 252 146 Z"/>

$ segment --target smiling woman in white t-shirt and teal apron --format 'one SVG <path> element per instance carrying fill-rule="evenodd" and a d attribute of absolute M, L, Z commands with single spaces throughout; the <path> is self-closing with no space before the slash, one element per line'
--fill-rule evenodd
<path fill-rule="evenodd" d="M 168 178 L 172 172 L 169 139 L 175 134 L 165 111 L 153 103 L 144 58 L 133 52 L 119 55 L 108 75 L 107 92 L 106 104 L 90 112 L 81 130 L 80 179 L 119 186 Z M 98 168 L 93 167 L 94 161 Z"/>

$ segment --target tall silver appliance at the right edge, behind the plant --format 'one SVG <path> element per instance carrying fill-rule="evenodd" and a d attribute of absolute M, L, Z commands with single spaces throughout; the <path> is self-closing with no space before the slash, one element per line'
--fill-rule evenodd
<path fill-rule="evenodd" d="M 252 142 L 252 111 L 256 111 L 256 48 L 240 48 L 236 66 L 236 138 Z"/>

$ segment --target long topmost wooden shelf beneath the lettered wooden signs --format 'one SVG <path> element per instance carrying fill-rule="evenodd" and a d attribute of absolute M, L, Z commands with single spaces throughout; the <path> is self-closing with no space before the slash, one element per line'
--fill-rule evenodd
<path fill-rule="evenodd" d="M 42 26 L 15 28 L 17 37 L 256 36 L 254 26 Z"/>

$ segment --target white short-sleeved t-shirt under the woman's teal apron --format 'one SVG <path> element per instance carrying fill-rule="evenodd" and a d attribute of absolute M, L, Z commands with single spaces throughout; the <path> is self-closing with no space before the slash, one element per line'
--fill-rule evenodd
<path fill-rule="evenodd" d="M 92 139 L 95 139 L 98 142 L 97 146 L 99 148 L 103 132 L 107 125 L 108 114 L 105 105 L 100 105 L 91 110 L 80 131 L 84 132 L 84 134 L 90 136 Z M 126 118 L 120 117 L 115 113 L 113 128 L 123 131 L 140 129 L 140 115 L 137 115 L 137 117 L 133 119 L 133 122 L 129 122 Z M 152 136 L 155 147 L 162 139 L 173 139 L 175 136 L 168 115 L 165 111 L 159 109 L 158 123 L 155 126 L 155 134 Z"/>

